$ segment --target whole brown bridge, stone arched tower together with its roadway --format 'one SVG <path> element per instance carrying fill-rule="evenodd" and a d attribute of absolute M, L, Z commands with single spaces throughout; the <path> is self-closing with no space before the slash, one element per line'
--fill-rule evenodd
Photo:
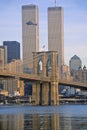
<path fill-rule="evenodd" d="M 33 73 L 13 72 L 6 69 L 0 70 L 0 78 L 16 78 L 18 88 L 21 81 L 32 83 L 33 105 L 59 105 L 59 85 L 87 89 L 87 83 L 75 82 L 59 76 L 58 54 L 56 51 L 33 52 Z"/>

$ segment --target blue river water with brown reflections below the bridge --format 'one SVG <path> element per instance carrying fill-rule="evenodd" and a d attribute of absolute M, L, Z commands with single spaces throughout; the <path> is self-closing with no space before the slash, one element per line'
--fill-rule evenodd
<path fill-rule="evenodd" d="M 0 106 L 0 130 L 87 130 L 87 105 Z"/>

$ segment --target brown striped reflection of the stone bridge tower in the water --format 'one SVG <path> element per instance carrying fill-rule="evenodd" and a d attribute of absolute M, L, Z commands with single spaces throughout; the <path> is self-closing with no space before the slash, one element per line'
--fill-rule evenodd
<path fill-rule="evenodd" d="M 24 130 L 59 130 L 58 117 L 53 115 L 25 115 Z"/>

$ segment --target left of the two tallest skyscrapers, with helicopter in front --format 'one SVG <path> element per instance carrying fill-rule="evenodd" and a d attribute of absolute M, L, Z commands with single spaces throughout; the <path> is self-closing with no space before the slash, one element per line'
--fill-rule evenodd
<path fill-rule="evenodd" d="M 22 6 L 22 42 L 24 68 L 32 68 L 32 52 L 39 51 L 38 17 L 38 7 L 36 5 Z"/>

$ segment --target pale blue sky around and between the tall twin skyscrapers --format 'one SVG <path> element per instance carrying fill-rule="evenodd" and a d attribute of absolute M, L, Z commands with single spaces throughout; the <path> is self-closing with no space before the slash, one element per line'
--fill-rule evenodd
<path fill-rule="evenodd" d="M 43 45 L 48 50 L 47 8 L 55 6 L 55 0 L 1 0 L 0 45 L 3 41 L 18 41 L 22 50 L 22 5 L 28 4 L 38 5 L 40 51 Z M 56 0 L 56 6 L 64 8 L 65 64 L 77 55 L 87 66 L 87 0 Z"/>

